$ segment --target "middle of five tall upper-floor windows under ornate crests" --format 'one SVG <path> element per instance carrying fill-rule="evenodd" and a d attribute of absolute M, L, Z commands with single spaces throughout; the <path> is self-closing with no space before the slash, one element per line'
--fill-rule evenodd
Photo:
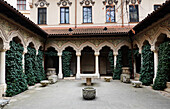
<path fill-rule="evenodd" d="M 92 23 L 92 7 L 83 7 L 83 23 Z"/>

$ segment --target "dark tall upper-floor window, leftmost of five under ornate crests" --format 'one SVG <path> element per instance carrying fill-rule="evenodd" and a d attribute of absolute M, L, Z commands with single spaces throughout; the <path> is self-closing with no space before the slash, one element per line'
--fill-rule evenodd
<path fill-rule="evenodd" d="M 38 8 L 38 24 L 46 24 L 46 8 Z"/>

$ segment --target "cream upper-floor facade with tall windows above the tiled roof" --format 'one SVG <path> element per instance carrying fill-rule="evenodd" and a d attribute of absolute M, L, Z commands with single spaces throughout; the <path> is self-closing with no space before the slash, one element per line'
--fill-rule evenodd
<path fill-rule="evenodd" d="M 41 27 L 136 25 L 166 0 L 30 0 Z"/>

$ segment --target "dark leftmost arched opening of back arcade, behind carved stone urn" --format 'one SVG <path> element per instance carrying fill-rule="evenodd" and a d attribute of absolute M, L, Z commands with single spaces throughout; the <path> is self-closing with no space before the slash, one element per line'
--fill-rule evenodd
<path fill-rule="evenodd" d="M 47 68 L 55 68 L 56 74 L 59 72 L 59 57 L 58 52 L 53 47 L 49 47 L 45 52 L 45 71 Z"/>

